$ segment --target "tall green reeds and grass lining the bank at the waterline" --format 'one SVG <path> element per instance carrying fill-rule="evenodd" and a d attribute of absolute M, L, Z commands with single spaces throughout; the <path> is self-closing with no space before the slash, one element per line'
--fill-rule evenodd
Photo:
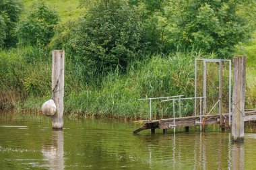
<path fill-rule="evenodd" d="M 44 101 L 51 97 L 51 52 L 40 48 L 2 50 L 0 61 L 0 110 L 40 113 Z M 115 70 L 107 75 L 84 76 L 84 65 L 74 62 L 66 54 L 65 61 L 65 116 L 70 118 L 97 117 L 139 120 L 149 118 L 147 101 L 140 98 L 171 95 L 194 95 L 195 58 L 216 58 L 214 54 L 200 52 L 175 52 L 148 55 L 143 61 L 134 61 L 127 73 Z M 255 108 L 255 67 L 248 64 L 246 108 Z M 199 65 L 200 67 L 200 65 Z M 218 75 L 210 65 L 207 81 L 209 104 L 217 99 Z M 224 69 L 225 69 L 224 65 Z M 198 91 L 202 88 L 197 83 Z M 224 83 L 228 73 L 224 71 Z M 249 83 L 251 82 L 251 83 Z M 224 85 L 224 97 L 228 96 Z M 197 95 L 200 95 L 197 94 Z M 224 99 L 224 110 L 228 101 Z M 182 103 L 183 116 L 193 113 L 193 101 Z M 172 105 L 152 102 L 154 118 L 168 118 Z"/>

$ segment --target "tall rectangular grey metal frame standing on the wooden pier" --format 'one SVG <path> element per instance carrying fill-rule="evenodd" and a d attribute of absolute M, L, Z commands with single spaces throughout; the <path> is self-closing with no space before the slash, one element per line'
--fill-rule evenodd
<path fill-rule="evenodd" d="M 229 62 L 229 75 L 228 75 L 228 98 L 229 98 L 229 103 L 228 103 L 228 124 L 231 125 L 231 60 L 224 60 L 224 59 L 204 59 L 204 58 L 195 58 L 195 115 L 197 112 L 197 60 L 202 60 L 203 61 L 203 114 L 206 114 L 206 105 L 207 105 L 207 100 L 206 100 L 206 73 L 207 73 L 207 67 L 206 63 L 207 62 L 219 62 L 220 67 L 219 67 L 219 87 L 222 87 L 221 82 L 222 82 L 222 62 Z M 220 99 L 218 100 L 218 102 Z M 221 107 L 221 105 L 219 106 Z M 221 108 L 219 108 L 221 110 Z"/>

